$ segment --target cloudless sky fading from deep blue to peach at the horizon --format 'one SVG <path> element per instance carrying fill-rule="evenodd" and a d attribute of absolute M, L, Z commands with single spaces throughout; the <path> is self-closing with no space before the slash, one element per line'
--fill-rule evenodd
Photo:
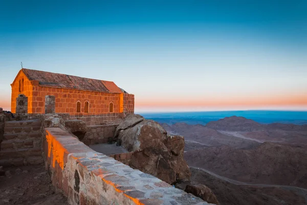
<path fill-rule="evenodd" d="M 307 1 L 3 1 L 0 107 L 24 67 L 114 81 L 136 112 L 307 110 Z"/>

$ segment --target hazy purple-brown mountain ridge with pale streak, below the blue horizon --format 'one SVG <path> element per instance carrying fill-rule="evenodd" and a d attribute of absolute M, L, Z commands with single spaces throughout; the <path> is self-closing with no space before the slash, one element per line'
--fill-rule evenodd
<path fill-rule="evenodd" d="M 233 148 L 254 147 L 255 142 L 306 144 L 307 125 L 259 124 L 245 117 L 225 117 L 207 125 L 161 124 L 169 133 L 180 134 L 208 147 L 228 145 Z"/>

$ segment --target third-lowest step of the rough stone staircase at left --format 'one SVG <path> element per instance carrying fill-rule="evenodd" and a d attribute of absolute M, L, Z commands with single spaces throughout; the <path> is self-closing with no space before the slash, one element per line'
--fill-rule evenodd
<path fill-rule="evenodd" d="M 40 147 L 41 139 L 26 139 L 26 140 L 4 140 L 1 142 L 0 150 L 12 150 L 19 148 Z"/>

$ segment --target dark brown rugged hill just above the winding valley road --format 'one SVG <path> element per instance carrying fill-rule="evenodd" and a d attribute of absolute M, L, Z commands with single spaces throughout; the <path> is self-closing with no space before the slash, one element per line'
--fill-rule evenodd
<path fill-rule="evenodd" d="M 185 153 L 189 166 L 234 180 L 307 188 L 307 146 L 264 142 L 253 149 L 228 146 Z"/>

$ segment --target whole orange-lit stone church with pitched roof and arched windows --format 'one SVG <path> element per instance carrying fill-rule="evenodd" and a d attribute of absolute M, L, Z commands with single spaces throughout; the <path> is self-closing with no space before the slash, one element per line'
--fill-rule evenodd
<path fill-rule="evenodd" d="M 47 104 L 55 104 L 55 113 L 71 117 L 112 116 L 134 113 L 134 95 L 113 81 L 66 74 L 21 69 L 12 87 L 12 113 L 46 113 Z M 45 105 L 46 104 L 46 105 Z"/>

